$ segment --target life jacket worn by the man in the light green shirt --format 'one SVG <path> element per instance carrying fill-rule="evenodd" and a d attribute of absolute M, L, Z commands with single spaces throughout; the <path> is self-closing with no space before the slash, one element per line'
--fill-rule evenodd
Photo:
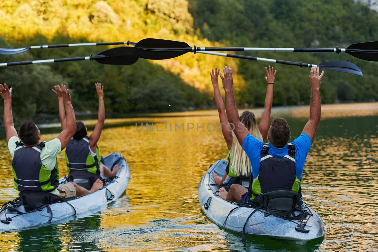
<path fill-rule="evenodd" d="M 58 161 L 55 168 L 49 170 L 41 162 L 41 151 L 45 142 L 34 147 L 25 147 L 23 142 L 16 142 L 12 170 L 14 189 L 23 191 L 50 192 L 59 186 Z"/>

